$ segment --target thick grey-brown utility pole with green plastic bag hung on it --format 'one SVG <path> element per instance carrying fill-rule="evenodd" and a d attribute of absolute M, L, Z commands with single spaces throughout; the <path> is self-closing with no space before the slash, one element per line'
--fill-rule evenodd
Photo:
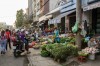
<path fill-rule="evenodd" d="M 76 22 L 78 22 L 78 27 L 82 22 L 81 0 L 76 0 Z M 78 48 L 81 49 L 80 31 L 76 33 L 76 45 L 78 45 Z"/>

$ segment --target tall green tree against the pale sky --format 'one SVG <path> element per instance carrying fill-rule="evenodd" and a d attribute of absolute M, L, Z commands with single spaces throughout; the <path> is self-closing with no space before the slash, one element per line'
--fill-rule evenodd
<path fill-rule="evenodd" d="M 23 13 L 23 10 L 20 9 L 17 11 L 17 14 L 16 14 L 16 27 L 17 28 L 20 28 L 23 26 L 23 22 L 24 22 L 24 13 Z"/>

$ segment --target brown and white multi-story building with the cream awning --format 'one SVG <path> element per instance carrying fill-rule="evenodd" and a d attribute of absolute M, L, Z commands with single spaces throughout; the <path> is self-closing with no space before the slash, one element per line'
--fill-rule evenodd
<path fill-rule="evenodd" d="M 41 17 L 39 18 L 39 22 L 44 22 L 44 29 L 48 27 L 48 21 L 52 17 L 55 17 L 55 9 L 59 7 L 61 0 L 41 0 Z"/>

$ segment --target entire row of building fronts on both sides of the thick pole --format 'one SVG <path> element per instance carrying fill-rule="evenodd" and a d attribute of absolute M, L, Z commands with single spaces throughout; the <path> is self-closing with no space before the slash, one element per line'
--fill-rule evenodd
<path fill-rule="evenodd" d="M 43 29 L 53 25 L 59 27 L 61 33 L 66 33 L 75 25 L 76 0 L 32 0 L 32 3 L 29 14 L 33 15 L 33 21 L 42 23 Z M 95 33 L 100 33 L 99 15 L 100 0 L 82 0 L 82 22 L 86 21 Z"/>

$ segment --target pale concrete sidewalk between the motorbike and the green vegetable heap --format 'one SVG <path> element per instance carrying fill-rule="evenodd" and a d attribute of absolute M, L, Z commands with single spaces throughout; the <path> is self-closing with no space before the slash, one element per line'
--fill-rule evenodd
<path fill-rule="evenodd" d="M 41 57 L 40 50 L 30 49 L 31 54 L 28 55 L 29 66 L 62 66 L 53 61 L 52 58 Z"/>

